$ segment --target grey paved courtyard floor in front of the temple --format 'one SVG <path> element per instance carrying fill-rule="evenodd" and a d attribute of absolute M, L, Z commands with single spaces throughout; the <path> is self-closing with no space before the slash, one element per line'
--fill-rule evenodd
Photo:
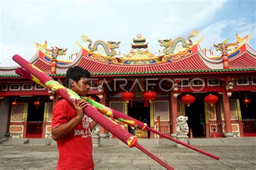
<path fill-rule="evenodd" d="M 220 157 L 208 158 L 188 148 L 145 146 L 175 169 L 256 169 L 256 145 L 198 146 Z M 125 145 L 93 148 L 95 169 L 165 169 L 137 148 Z M 1 169 L 56 169 L 57 146 L 0 145 Z"/>

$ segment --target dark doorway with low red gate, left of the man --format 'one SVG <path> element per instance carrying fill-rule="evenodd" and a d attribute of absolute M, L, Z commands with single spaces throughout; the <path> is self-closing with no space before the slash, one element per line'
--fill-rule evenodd
<path fill-rule="evenodd" d="M 28 119 L 26 122 L 26 138 L 42 138 L 44 121 L 44 104 L 37 108 L 34 103 L 29 103 Z"/>

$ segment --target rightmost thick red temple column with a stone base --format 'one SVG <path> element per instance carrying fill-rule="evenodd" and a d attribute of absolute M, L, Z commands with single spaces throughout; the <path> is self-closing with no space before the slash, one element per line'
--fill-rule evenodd
<path fill-rule="evenodd" d="M 224 117 L 225 117 L 225 129 L 226 133 L 224 133 L 225 137 L 233 137 L 234 133 L 232 133 L 231 127 L 231 117 L 230 117 L 230 101 L 226 94 L 226 91 L 223 91 L 223 109 L 224 109 Z"/>

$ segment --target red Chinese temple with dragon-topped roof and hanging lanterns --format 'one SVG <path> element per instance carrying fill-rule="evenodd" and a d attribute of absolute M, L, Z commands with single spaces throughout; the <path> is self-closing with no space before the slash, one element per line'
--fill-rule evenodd
<path fill-rule="evenodd" d="M 45 41 L 35 43 L 38 51 L 29 62 L 63 84 L 69 67 L 89 70 L 90 96 L 167 135 L 175 136 L 177 117 L 187 116 L 191 138 L 256 136 L 256 52 L 247 44 L 251 35 L 237 34 L 236 42 L 214 44 L 214 51 L 200 47 L 203 38 L 194 41 L 198 34 L 158 40 L 155 53 L 138 34 L 127 54 L 117 52 L 120 41 L 93 42 L 83 35 L 77 41 L 80 52 L 68 60 L 62 58 L 68 49 L 49 49 Z M 0 67 L 0 138 L 50 138 L 58 97 L 17 75 L 18 67 Z M 100 129 L 100 136 L 108 135 Z M 135 135 L 157 138 L 139 129 Z"/>

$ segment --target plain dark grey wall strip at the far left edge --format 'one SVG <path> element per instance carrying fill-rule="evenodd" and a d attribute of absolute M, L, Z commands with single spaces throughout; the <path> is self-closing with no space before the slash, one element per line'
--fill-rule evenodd
<path fill-rule="evenodd" d="M 10 100 L 8 98 L 3 98 L 0 100 L 0 138 L 4 138 L 4 134 L 7 130 L 8 124 L 8 114 L 9 114 L 9 104 Z"/>

